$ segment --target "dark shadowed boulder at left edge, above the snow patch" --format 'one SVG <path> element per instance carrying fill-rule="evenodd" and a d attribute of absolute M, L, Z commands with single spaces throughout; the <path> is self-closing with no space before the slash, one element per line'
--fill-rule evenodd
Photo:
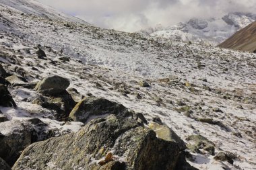
<path fill-rule="evenodd" d="M 13 101 L 8 89 L 0 84 L 0 105 L 4 107 L 16 107 L 16 103 Z"/>

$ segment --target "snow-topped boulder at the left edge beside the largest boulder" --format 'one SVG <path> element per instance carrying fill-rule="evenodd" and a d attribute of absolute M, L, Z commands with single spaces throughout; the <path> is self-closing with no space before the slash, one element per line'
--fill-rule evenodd
<path fill-rule="evenodd" d="M 31 128 L 19 120 L 10 120 L 0 124 L 0 157 L 13 165 L 20 152 L 31 144 Z"/>

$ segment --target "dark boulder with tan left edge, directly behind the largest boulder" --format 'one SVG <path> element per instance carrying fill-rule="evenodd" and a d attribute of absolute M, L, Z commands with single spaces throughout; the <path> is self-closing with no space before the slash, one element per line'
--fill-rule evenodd
<path fill-rule="evenodd" d="M 132 116 L 125 106 L 99 97 L 86 97 L 75 105 L 70 112 L 69 118 L 75 122 L 88 122 L 96 116 L 116 114 L 123 117 Z"/>

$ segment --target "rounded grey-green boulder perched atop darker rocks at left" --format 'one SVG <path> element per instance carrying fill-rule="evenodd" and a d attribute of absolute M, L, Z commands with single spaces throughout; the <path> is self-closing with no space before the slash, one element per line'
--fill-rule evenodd
<path fill-rule="evenodd" d="M 42 81 L 38 82 L 35 90 L 49 95 L 56 95 L 65 91 L 69 85 L 68 79 L 53 75 L 51 77 L 45 77 Z"/>

